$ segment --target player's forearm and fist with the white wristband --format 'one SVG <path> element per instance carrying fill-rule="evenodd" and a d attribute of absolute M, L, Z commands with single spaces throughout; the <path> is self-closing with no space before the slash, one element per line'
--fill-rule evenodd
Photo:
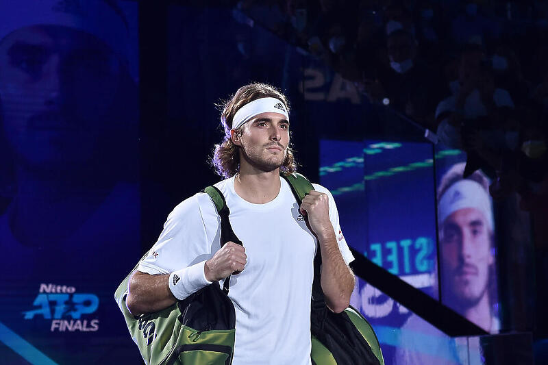
<path fill-rule="evenodd" d="M 177 285 L 182 286 L 185 290 L 185 294 L 183 295 L 180 292 L 177 293 L 177 290 L 175 290 L 177 297 L 175 297 L 169 285 L 171 274 L 150 275 L 136 271 L 129 279 L 129 292 L 126 298 L 127 309 L 134 316 L 158 312 L 173 305 L 177 299 L 182 300 L 188 297 L 192 292 L 206 286 L 208 282 L 219 281 L 234 272 L 244 270 L 246 262 L 247 255 L 245 254 L 244 247 L 234 242 L 227 242 L 203 266 L 196 264 L 195 266 L 175 272 L 179 277 Z M 203 275 L 205 282 L 202 281 L 201 284 L 193 284 L 192 279 L 190 281 L 187 280 L 188 277 L 196 276 L 184 275 L 184 271 L 190 273 L 192 268 L 199 268 L 201 270 L 200 274 Z M 194 288 L 189 288 L 193 285 L 195 286 Z"/>

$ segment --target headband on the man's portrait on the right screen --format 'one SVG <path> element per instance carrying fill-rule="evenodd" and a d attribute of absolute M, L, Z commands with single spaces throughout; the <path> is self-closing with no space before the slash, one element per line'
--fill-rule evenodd
<path fill-rule="evenodd" d="M 489 228 L 493 230 L 491 199 L 481 184 L 470 179 L 457 181 L 443 193 L 438 201 L 439 223 L 443 224 L 448 216 L 464 208 L 475 208 L 482 212 Z"/>

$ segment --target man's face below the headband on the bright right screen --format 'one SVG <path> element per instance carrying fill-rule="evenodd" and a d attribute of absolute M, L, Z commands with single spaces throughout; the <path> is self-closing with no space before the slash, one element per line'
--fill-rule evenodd
<path fill-rule="evenodd" d="M 468 309 L 487 295 L 493 264 L 490 240 L 486 218 L 475 208 L 457 210 L 443 222 L 442 289 L 452 307 Z"/>

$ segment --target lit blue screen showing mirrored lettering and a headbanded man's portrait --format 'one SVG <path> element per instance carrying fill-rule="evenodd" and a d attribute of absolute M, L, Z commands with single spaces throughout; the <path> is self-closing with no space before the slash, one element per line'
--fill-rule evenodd
<path fill-rule="evenodd" d="M 497 332 L 494 225 L 488 221 L 493 207 L 483 184 L 488 179 L 478 171 L 474 178 L 483 185 L 456 184 L 465 160 L 462 151 L 429 143 L 320 142 L 321 184 L 334 194 L 349 245 L 435 299 L 440 267 L 442 302 Z M 449 338 L 366 279 L 358 279 L 351 304 L 375 327 L 388 363 L 468 364 L 470 353 L 479 356 L 477 338 Z M 477 310 L 482 316 L 470 315 Z"/>

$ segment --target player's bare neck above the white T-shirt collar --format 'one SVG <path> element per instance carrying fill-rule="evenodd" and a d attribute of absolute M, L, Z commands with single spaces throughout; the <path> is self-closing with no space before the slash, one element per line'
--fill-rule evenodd
<path fill-rule="evenodd" d="M 273 171 L 241 171 L 234 178 L 234 190 L 245 201 L 264 204 L 273 201 L 281 186 L 279 168 Z"/>

